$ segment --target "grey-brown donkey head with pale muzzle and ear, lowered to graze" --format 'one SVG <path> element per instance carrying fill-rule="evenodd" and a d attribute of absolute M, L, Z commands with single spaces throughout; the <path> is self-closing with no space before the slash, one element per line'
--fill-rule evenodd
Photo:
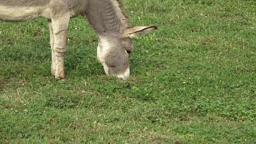
<path fill-rule="evenodd" d="M 126 28 L 120 35 L 99 36 L 97 57 L 106 75 L 126 79 L 130 76 L 129 56 L 133 51 L 132 37 L 148 34 L 156 26 L 136 26 Z"/>

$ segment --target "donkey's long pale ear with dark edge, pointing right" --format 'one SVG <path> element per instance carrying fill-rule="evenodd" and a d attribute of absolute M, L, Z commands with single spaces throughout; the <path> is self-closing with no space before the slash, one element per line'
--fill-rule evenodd
<path fill-rule="evenodd" d="M 128 28 L 124 31 L 125 36 L 129 38 L 136 37 L 140 34 L 148 34 L 152 30 L 156 30 L 156 26 L 135 26 L 132 28 Z"/>

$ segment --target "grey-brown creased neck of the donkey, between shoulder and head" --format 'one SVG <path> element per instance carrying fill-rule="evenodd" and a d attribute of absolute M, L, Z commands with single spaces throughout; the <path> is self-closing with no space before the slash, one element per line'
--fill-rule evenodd
<path fill-rule="evenodd" d="M 117 0 L 90 0 L 84 17 L 98 36 L 120 36 L 130 27 Z"/>

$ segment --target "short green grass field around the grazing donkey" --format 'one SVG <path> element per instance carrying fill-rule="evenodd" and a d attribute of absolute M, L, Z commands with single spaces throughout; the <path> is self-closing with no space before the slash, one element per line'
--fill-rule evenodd
<path fill-rule="evenodd" d="M 96 34 L 70 21 L 66 82 L 52 78 L 47 22 L 0 22 L 1 144 L 255 144 L 253 0 L 126 0 L 128 80 L 105 76 Z M 186 83 L 184 83 L 186 82 Z"/>

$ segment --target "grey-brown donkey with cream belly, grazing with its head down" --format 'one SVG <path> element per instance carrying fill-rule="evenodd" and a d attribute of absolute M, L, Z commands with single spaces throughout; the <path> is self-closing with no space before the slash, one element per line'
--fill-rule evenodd
<path fill-rule="evenodd" d="M 129 24 L 120 8 L 120 0 L 0 0 L 0 20 L 22 22 L 48 19 L 52 49 L 51 72 L 65 79 L 64 55 L 70 18 L 84 16 L 98 36 L 97 58 L 106 75 L 125 79 L 130 75 L 129 54 L 132 37 L 156 30 L 156 26 Z"/>

